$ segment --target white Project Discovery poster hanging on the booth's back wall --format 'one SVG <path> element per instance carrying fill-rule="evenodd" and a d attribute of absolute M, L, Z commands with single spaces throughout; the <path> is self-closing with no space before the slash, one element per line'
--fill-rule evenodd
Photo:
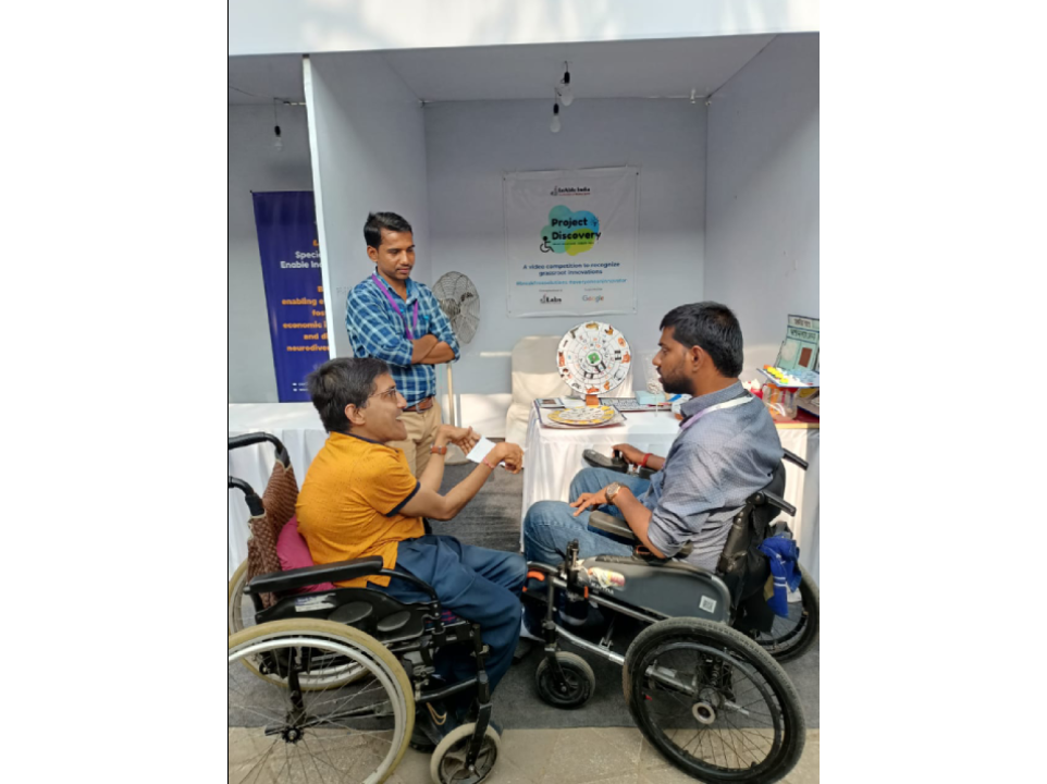
<path fill-rule="evenodd" d="M 509 316 L 635 314 L 640 170 L 503 179 Z"/>

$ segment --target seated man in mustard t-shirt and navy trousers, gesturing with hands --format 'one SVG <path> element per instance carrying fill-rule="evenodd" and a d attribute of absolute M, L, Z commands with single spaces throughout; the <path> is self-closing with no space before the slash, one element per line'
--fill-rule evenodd
<path fill-rule="evenodd" d="M 442 425 L 429 464 L 416 479 L 404 452 L 386 446 L 402 441 L 407 402 L 381 359 L 334 359 L 309 376 L 309 393 L 330 433 L 298 494 L 298 530 L 317 564 L 379 555 L 385 568 L 405 572 L 433 587 L 446 610 L 480 625 L 490 647 L 492 688 L 513 663 L 520 634 L 520 592 L 527 572 L 522 556 L 463 544 L 449 536 L 427 536 L 422 517 L 449 520 L 505 463 L 517 473 L 524 453 L 497 444 L 457 487 L 440 494 L 448 443 L 467 454 L 471 429 Z M 369 587 L 405 603 L 428 597 L 405 580 L 371 576 L 343 587 Z M 449 681 L 476 675 L 464 648 L 452 649 L 440 674 Z"/>

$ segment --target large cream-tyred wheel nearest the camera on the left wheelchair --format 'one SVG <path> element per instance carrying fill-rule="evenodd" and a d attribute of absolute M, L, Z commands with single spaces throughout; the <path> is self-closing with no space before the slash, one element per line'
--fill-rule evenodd
<path fill-rule="evenodd" d="M 272 662 L 284 683 L 254 677 L 245 660 Z M 331 660 L 365 675 L 310 691 Z M 229 638 L 230 784 L 381 784 L 407 749 L 415 698 L 399 662 L 375 639 L 327 621 L 278 621 Z"/>

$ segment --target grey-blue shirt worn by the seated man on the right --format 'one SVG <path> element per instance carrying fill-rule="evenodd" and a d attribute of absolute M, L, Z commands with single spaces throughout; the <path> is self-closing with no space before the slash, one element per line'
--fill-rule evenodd
<path fill-rule="evenodd" d="M 746 397 L 744 405 L 709 411 Z M 655 548 L 673 558 L 691 542 L 686 562 L 715 571 L 735 515 L 771 483 L 785 453 L 766 406 L 740 383 L 688 401 L 682 413 L 685 429 L 640 501 L 652 512 Z"/>

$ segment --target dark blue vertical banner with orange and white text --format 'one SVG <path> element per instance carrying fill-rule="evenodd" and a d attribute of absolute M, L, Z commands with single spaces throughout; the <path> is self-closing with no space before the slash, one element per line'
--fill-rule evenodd
<path fill-rule="evenodd" d="M 309 402 L 306 376 L 330 358 L 316 203 L 309 192 L 252 195 L 280 402 Z"/>

